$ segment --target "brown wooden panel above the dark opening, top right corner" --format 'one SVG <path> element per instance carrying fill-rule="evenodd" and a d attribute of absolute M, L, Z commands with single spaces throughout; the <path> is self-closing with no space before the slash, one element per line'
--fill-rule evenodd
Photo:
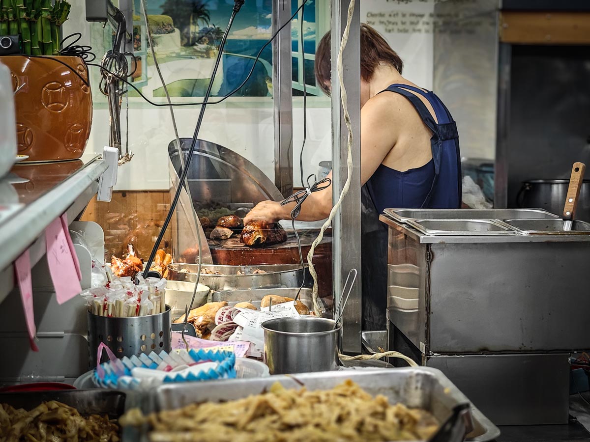
<path fill-rule="evenodd" d="M 590 44 L 590 12 L 500 13 L 500 41 L 512 44 Z"/>

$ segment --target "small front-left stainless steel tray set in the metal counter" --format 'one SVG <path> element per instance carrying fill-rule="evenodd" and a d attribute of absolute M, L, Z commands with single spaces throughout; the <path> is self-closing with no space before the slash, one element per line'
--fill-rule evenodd
<path fill-rule="evenodd" d="M 517 235 L 509 226 L 493 219 L 418 219 L 407 224 L 424 235 Z"/>

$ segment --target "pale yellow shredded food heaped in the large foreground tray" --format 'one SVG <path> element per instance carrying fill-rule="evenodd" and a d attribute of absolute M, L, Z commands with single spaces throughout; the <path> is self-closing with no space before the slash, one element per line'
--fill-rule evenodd
<path fill-rule="evenodd" d="M 150 415 L 151 442 L 323 442 L 427 440 L 438 421 L 424 410 L 391 405 L 350 380 L 331 390 L 286 390 L 225 403 L 192 404 Z M 123 425 L 145 420 L 135 411 Z"/>

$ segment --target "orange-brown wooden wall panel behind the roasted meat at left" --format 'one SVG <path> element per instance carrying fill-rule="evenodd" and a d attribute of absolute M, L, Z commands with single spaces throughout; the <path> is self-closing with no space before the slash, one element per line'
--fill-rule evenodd
<path fill-rule="evenodd" d="M 122 256 L 128 243 L 135 246 L 142 258 L 148 258 L 168 212 L 169 200 L 167 190 L 113 192 L 109 203 L 97 202 L 94 197 L 81 220 L 94 221 L 103 228 L 107 260 L 111 255 Z M 168 229 L 160 246 L 170 251 L 171 241 Z"/>

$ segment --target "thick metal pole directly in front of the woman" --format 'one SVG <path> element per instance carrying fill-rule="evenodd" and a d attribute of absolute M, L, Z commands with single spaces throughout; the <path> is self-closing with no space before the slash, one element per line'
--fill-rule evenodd
<path fill-rule="evenodd" d="M 340 104 L 340 86 L 337 81 L 337 54 L 340 37 L 346 27 L 349 1 L 331 0 L 332 4 L 332 189 L 336 201 L 346 180 L 348 130 Z M 355 4 L 350 35 L 343 53 L 344 85 L 348 94 L 348 110 L 354 136 L 352 161 L 353 177 L 348 196 L 343 200 L 333 222 L 334 295 L 340 303 L 342 285 L 350 269 L 358 271 L 346 311 L 342 316 L 342 349 L 360 353 L 362 313 L 360 268 L 360 1 Z"/>

